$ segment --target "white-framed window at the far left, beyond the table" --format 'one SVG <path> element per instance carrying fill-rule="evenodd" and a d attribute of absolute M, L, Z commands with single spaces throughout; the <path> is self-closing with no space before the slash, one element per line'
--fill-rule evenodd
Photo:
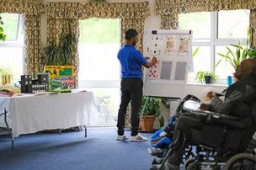
<path fill-rule="evenodd" d="M 13 82 L 20 80 L 23 73 L 24 33 L 21 14 L 0 13 L 3 19 L 3 31 L 7 35 L 5 41 L 0 42 L 0 67 L 8 67 L 13 73 Z"/>

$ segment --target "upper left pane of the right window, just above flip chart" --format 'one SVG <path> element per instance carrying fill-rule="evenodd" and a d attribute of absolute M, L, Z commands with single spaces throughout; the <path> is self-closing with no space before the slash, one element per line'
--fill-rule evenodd
<path fill-rule="evenodd" d="M 179 29 L 192 29 L 194 39 L 210 39 L 211 13 L 180 13 Z"/>

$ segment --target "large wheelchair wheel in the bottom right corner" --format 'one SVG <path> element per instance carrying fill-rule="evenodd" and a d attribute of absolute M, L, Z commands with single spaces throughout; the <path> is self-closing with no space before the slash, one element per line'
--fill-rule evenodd
<path fill-rule="evenodd" d="M 248 153 L 237 154 L 228 160 L 225 169 L 256 170 L 256 157 Z"/>

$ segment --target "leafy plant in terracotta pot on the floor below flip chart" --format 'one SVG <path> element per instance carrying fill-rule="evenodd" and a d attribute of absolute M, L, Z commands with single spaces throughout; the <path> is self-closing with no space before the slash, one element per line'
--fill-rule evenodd
<path fill-rule="evenodd" d="M 146 101 L 147 101 L 147 105 L 145 106 Z M 160 111 L 161 109 L 160 103 L 161 103 L 161 98 L 143 96 L 142 102 L 141 102 L 141 122 L 140 122 L 142 131 L 152 130 L 156 117 L 159 120 L 160 127 L 163 127 L 164 119 Z M 143 111 L 144 106 L 145 106 L 145 109 Z"/>

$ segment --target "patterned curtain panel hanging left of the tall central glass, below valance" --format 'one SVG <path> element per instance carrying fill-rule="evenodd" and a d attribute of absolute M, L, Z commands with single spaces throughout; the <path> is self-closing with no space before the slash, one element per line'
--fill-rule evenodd
<path fill-rule="evenodd" d="M 79 72 L 79 56 L 78 56 L 78 40 L 79 40 L 79 20 L 78 19 L 48 19 L 48 36 L 49 44 L 57 44 L 60 35 L 67 35 L 72 32 L 72 36 L 76 38 L 75 47 L 71 56 L 72 66 L 75 66 L 75 87 L 78 88 L 78 72 Z"/>

